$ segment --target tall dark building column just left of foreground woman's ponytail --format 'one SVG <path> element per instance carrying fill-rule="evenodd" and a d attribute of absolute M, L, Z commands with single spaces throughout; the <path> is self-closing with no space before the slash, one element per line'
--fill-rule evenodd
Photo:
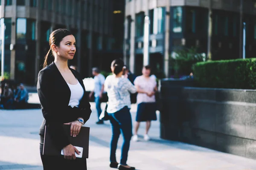
<path fill-rule="evenodd" d="M 40 0 L 37 0 L 37 9 L 36 9 L 36 23 L 35 23 L 35 41 L 36 41 L 36 48 L 35 48 L 35 85 L 36 80 L 39 73 L 40 68 L 40 47 L 41 47 L 41 3 Z"/>

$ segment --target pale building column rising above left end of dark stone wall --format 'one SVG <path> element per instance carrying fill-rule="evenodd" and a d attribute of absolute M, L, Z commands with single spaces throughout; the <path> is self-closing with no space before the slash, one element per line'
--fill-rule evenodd
<path fill-rule="evenodd" d="M 168 15 L 167 15 L 168 14 Z M 169 38 L 170 38 L 170 5 L 169 1 L 166 7 L 166 16 L 165 16 L 165 37 L 164 37 L 164 73 L 166 77 L 169 77 Z"/>

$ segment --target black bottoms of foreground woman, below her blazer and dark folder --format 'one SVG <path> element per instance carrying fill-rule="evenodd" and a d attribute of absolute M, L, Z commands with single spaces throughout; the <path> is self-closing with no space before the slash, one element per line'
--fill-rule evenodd
<path fill-rule="evenodd" d="M 64 156 L 43 155 L 44 136 L 40 136 L 40 155 L 44 170 L 87 170 L 86 159 L 64 159 Z"/>

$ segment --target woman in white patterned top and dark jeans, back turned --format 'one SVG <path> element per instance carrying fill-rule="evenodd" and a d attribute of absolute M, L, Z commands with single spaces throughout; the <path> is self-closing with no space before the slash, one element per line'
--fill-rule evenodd
<path fill-rule="evenodd" d="M 136 88 L 123 76 L 124 68 L 123 60 L 115 59 L 111 63 L 113 75 L 108 76 L 104 84 L 105 91 L 108 93 L 107 112 L 112 126 L 110 167 L 118 168 L 119 170 L 134 170 L 135 167 L 128 166 L 126 161 L 132 136 L 130 93 L 136 93 Z M 116 147 L 120 133 L 122 133 L 124 142 L 119 164 L 116 161 Z"/>

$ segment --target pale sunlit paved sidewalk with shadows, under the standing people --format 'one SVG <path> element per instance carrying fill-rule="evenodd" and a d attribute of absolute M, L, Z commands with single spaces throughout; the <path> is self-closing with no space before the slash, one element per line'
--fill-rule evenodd
<path fill-rule="evenodd" d="M 109 167 L 110 123 L 96 125 L 95 105 L 85 126 L 90 127 L 88 170 L 113 170 Z M 104 104 L 102 104 L 102 108 Z M 135 118 L 136 105 L 132 117 Z M 159 116 L 159 115 L 158 115 Z M 0 170 L 43 170 L 39 155 L 38 129 L 41 125 L 40 110 L 0 110 Z M 145 125 L 140 128 L 143 135 Z M 221 153 L 203 147 L 159 138 L 159 122 L 152 122 L 149 142 L 141 138 L 131 142 L 128 164 L 137 170 L 256 170 L 256 160 Z M 142 137 L 142 136 L 141 136 Z M 116 153 L 120 159 L 120 147 Z"/>

